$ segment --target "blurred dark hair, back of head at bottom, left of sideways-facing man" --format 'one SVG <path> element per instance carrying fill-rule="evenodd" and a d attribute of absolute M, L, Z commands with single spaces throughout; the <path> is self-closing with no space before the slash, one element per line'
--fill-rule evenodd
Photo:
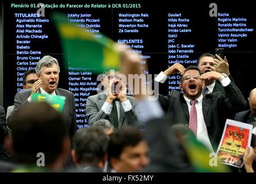
<path fill-rule="evenodd" d="M 81 128 L 74 136 L 74 150 L 79 163 L 99 163 L 108 150 L 108 136 L 102 128 Z"/>

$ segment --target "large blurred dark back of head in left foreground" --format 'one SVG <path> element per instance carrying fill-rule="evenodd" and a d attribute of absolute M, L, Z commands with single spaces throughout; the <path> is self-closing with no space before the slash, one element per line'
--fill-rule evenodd
<path fill-rule="evenodd" d="M 30 102 L 20 106 L 9 120 L 12 125 L 14 160 L 36 164 L 39 152 L 45 164 L 54 163 L 62 151 L 67 125 L 60 113 L 46 102 Z"/>

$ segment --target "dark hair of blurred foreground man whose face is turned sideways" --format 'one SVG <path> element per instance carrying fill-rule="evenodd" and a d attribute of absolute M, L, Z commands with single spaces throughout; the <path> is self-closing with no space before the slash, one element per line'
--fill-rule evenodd
<path fill-rule="evenodd" d="M 145 140 L 142 132 L 135 127 L 122 127 L 110 136 L 108 158 L 120 158 L 125 147 L 135 147 L 140 141 Z"/>

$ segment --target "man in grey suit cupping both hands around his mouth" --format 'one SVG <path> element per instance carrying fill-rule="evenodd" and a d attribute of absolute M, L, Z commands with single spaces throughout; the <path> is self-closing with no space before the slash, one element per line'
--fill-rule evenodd
<path fill-rule="evenodd" d="M 114 72 L 113 75 L 106 73 L 101 78 L 101 83 L 106 90 L 87 99 L 86 120 L 89 125 L 93 125 L 97 120 L 106 119 L 115 129 L 124 125 L 142 127 L 142 118 L 136 99 L 126 95 L 127 89 L 119 76 L 121 74 L 118 72 Z M 117 113 L 114 113 L 114 108 Z"/>

